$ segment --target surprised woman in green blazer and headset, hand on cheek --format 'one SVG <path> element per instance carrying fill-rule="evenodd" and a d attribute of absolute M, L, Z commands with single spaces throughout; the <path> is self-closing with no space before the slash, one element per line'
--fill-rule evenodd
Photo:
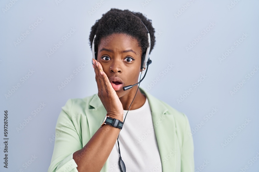
<path fill-rule="evenodd" d="M 62 107 L 48 171 L 194 171 L 186 115 L 142 88 L 123 90 L 150 64 L 151 20 L 111 9 L 92 26 L 89 40 L 98 95 Z"/>

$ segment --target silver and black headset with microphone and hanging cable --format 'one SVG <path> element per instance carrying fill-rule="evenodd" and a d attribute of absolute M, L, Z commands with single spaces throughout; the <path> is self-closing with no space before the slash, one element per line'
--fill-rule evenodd
<path fill-rule="evenodd" d="M 142 22 L 142 21 L 141 21 L 141 22 Z M 142 23 L 143 23 L 143 22 L 142 22 Z M 144 24 L 144 23 L 143 23 L 143 24 Z M 144 26 L 146 27 L 145 24 L 144 24 Z M 147 27 L 146 27 L 146 29 L 147 29 Z M 142 55 L 142 57 L 141 57 L 141 60 L 144 58 L 143 65 L 142 65 L 142 68 L 141 68 L 142 71 L 144 70 L 143 68 L 147 68 L 147 69 L 148 69 L 148 65 L 152 63 L 152 61 L 149 59 L 149 52 L 150 52 L 150 47 L 151 47 L 151 40 L 150 40 L 150 34 L 149 34 L 149 32 L 148 32 L 148 29 L 147 29 L 147 36 L 148 36 L 148 45 L 149 45 L 149 46 L 147 47 L 146 53 L 143 53 L 143 55 Z M 92 43 L 93 59 L 97 59 L 97 53 L 95 52 L 95 44 L 94 44 L 95 37 L 96 37 L 96 35 L 93 37 L 93 43 Z M 141 73 L 142 73 L 142 72 L 141 72 Z M 134 84 L 134 85 L 125 86 L 125 87 L 123 87 L 123 90 L 126 91 L 126 90 L 132 88 L 133 86 L 140 84 L 140 82 L 145 78 L 146 73 L 147 73 L 147 70 L 146 70 L 145 75 L 143 76 L 143 78 L 142 78 L 138 83 L 136 83 L 136 84 Z M 141 78 L 141 74 L 140 74 L 140 78 Z M 139 89 L 139 86 L 138 86 L 138 89 Z M 137 94 L 137 92 L 138 92 L 138 89 L 137 89 L 137 91 L 136 91 L 136 94 Z M 135 96 L 136 96 L 136 94 L 135 94 Z M 134 96 L 133 100 L 135 99 L 135 96 Z M 132 100 L 132 102 L 133 102 L 133 100 Z M 131 104 L 132 104 L 132 102 L 131 102 Z M 130 107 L 131 107 L 131 104 L 130 104 Z M 129 107 L 128 111 L 130 110 L 130 107 Z M 127 117 L 128 111 L 127 111 L 127 113 L 126 113 L 126 116 L 125 116 L 125 118 L 124 118 L 123 123 L 125 122 L 125 119 L 126 119 L 126 117 Z M 119 134 L 119 135 L 120 135 L 120 134 Z M 119 135 L 118 135 L 118 138 L 117 138 L 117 142 L 118 142 L 119 155 L 120 155 Z M 124 164 L 124 162 L 123 162 L 123 160 L 122 160 L 122 158 L 121 158 L 121 155 L 120 155 L 120 157 L 119 157 L 119 168 L 120 168 L 120 171 L 121 171 L 121 172 L 126 172 L 126 166 L 125 166 L 125 164 Z"/>

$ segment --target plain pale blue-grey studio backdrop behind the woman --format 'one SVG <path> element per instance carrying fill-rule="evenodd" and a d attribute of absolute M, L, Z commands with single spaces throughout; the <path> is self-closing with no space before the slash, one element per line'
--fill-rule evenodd
<path fill-rule="evenodd" d="M 140 87 L 187 115 L 196 171 L 258 170 L 258 5 L 2 0 L 0 171 L 47 171 L 61 107 L 98 91 L 89 33 L 111 8 L 152 20 L 156 44 Z"/>

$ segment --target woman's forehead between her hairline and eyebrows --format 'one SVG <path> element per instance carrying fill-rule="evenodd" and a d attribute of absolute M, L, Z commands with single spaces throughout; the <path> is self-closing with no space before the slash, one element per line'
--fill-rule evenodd
<path fill-rule="evenodd" d="M 107 48 L 113 51 L 133 50 L 136 53 L 138 52 L 141 54 L 141 47 L 139 46 L 138 40 L 127 34 L 116 33 L 101 38 L 98 45 L 98 52 L 102 48 Z"/>

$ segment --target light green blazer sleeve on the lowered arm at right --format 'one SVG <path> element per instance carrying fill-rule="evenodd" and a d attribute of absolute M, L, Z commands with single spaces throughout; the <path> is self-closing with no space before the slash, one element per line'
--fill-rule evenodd
<path fill-rule="evenodd" d="M 183 113 L 184 114 L 184 113 Z M 181 153 L 181 172 L 193 172 L 194 171 L 194 145 L 191 134 L 191 127 L 187 116 L 185 117 L 185 132 L 182 144 Z"/>

